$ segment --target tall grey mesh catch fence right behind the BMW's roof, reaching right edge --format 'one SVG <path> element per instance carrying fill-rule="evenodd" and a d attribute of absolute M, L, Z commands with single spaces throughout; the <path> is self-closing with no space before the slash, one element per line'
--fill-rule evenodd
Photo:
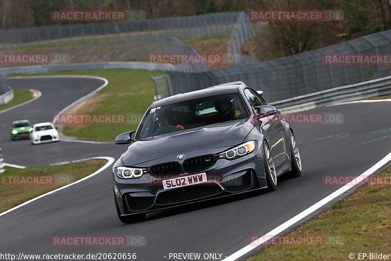
<path fill-rule="evenodd" d="M 327 62 L 330 56 L 357 54 L 390 60 L 391 30 L 273 61 L 236 65 L 199 73 L 168 71 L 172 85 L 171 93 L 183 93 L 226 82 L 242 81 L 250 87 L 263 90 L 265 99 L 271 102 L 391 75 L 390 62 L 384 64 L 378 61 L 356 64 Z"/>

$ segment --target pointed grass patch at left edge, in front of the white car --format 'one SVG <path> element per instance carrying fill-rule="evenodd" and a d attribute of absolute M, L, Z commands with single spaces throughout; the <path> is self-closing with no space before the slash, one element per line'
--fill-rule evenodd
<path fill-rule="evenodd" d="M 0 175 L 0 213 L 22 204 L 34 197 L 43 195 L 49 191 L 75 182 L 89 174 L 92 174 L 106 164 L 106 160 L 89 160 L 78 163 L 70 163 L 57 166 L 34 166 L 26 169 L 5 167 L 5 172 Z M 53 178 L 54 182 L 46 182 L 40 186 L 17 186 L 18 182 L 9 182 L 9 179 L 25 175 L 46 174 Z M 51 176 L 52 175 L 52 176 Z"/>

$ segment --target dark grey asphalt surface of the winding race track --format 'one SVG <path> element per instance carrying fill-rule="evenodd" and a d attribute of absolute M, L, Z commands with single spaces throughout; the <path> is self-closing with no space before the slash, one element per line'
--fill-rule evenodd
<path fill-rule="evenodd" d="M 0 114 L 0 147 L 5 162 L 40 165 L 90 156 L 117 158 L 125 146 L 57 142 L 31 146 L 11 142 L 12 120 L 50 121 L 81 96 L 102 85 L 88 79 L 10 80 L 14 88 L 34 88 L 42 97 Z M 247 194 L 154 212 L 146 220 L 122 224 L 115 213 L 111 170 L 45 196 L 0 217 L 0 253 L 136 253 L 137 260 L 169 260 L 170 253 L 231 255 L 341 186 L 326 186 L 325 175 L 360 175 L 390 152 L 390 102 L 313 109 L 343 113 L 343 124 L 293 125 L 302 156 L 299 178 L 279 180 L 277 191 Z M 57 235 L 141 235 L 144 247 L 53 247 Z M 348 246 L 347 246 L 348 247 Z M 172 259 L 171 259 L 172 260 Z"/>

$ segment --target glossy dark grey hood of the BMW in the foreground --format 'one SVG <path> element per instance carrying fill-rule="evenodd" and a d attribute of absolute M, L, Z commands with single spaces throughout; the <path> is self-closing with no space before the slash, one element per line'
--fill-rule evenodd
<path fill-rule="evenodd" d="M 134 141 L 122 154 L 122 162 L 125 166 L 133 166 L 187 152 L 235 146 L 243 142 L 253 128 L 251 121 L 242 119 Z"/>

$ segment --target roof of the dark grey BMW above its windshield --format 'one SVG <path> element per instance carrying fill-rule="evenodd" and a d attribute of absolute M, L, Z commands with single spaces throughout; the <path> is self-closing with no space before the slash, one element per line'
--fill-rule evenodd
<path fill-rule="evenodd" d="M 207 87 L 205 89 L 189 91 L 186 93 L 179 93 L 179 94 L 175 94 L 173 96 L 155 101 L 153 103 L 153 106 L 154 107 L 165 106 L 165 105 L 170 105 L 170 104 L 174 104 L 174 103 L 178 103 L 178 102 L 183 102 L 183 101 L 207 97 L 207 96 L 226 94 L 226 93 L 236 93 L 239 85 L 243 85 L 243 87 L 244 87 L 244 84 L 242 82 L 232 82 L 232 83 L 226 83 L 226 84 Z"/>

